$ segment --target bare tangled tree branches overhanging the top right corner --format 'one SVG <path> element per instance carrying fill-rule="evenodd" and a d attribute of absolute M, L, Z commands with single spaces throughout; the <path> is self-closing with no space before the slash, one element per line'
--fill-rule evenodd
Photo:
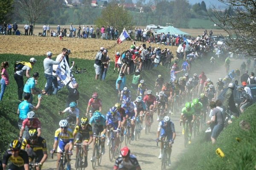
<path fill-rule="evenodd" d="M 218 0 L 233 8 L 221 12 L 214 7 L 214 17 L 211 20 L 227 32 L 229 51 L 236 54 L 256 54 L 256 3 L 255 0 Z"/>

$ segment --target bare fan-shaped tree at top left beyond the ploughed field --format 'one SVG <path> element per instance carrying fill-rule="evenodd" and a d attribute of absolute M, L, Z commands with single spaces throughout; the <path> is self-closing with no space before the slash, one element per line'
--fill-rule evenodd
<path fill-rule="evenodd" d="M 17 0 L 19 8 L 17 10 L 26 18 L 30 23 L 35 23 L 40 17 L 44 17 L 45 11 L 49 4 L 49 0 Z"/>

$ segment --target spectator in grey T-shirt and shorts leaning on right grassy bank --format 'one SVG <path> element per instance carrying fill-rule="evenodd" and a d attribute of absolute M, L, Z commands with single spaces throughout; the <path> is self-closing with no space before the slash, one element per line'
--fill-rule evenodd
<path fill-rule="evenodd" d="M 217 100 L 215 104 L 216 104 L 216 108 L 213 108 L 212 110 L 212 119 L 207 121 L 208 125 L 211 123 L 214 124 L 214 127 L 212 129 L 212 136 L 211 136 L 212 144 L 215 144 L 218 135 L 221 133 L 221 131 L 224 128 L 224 118 L 222 115 L 223 108 L 221 108 L 222 103 L 220 100 Z"/>

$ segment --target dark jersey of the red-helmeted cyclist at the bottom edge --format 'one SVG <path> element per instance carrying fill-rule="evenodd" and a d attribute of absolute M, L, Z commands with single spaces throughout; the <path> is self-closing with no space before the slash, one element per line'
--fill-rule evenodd
<path fill-rule="evenodd" d="M 136 170 L 137 167 L 140 167 L 140 164 L 134 155 L 129 155 L 128 161 L 124 161 L 122 156 L 119 155 L 114 165 L 114 168 L 124 170 Z"/>

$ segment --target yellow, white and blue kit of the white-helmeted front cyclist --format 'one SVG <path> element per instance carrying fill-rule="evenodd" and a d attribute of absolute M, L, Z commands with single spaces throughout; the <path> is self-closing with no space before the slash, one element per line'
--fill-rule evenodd
<path fill-rule="evenodd" d="M 58 128 L 55 131 L 54 140 L 58 141 L 58 139 L 60 139 L 60 141 L 58 143 L 58 148 L 60 148 L 62 151 L 64 151 L 64 147 L 66 146 L 66 144 L 73 142 L 72 130 L 70 128 L 68 128 L 66 133 L 62 133 L 61 128 Z"/>

